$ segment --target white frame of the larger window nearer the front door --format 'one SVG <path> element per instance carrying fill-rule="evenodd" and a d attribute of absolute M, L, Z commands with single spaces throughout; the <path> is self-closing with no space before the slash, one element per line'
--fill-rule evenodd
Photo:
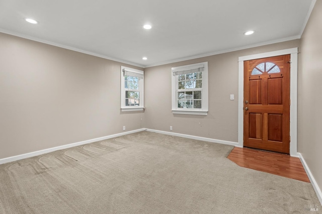
<path fill-rule="evenodd" d="M 178 74 L 184 71 L 203 68 L 202 71 L 202 88 L 201 88 L 201 109 L 178 108 Z M 207 115 L 208 114 L 208 62 L 196 63 L 174 67 L 171 69 L 172 76 L 172 113 L 173 114 L 191 114 L 191 115 Z M 191 72 L 194 73 L 194 72 Z M 196 89 L 191 89 L 195 91 Z"/>

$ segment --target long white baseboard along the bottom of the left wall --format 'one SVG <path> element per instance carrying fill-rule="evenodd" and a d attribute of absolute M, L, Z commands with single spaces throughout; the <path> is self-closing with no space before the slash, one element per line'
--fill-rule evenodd
<path fill-rule="evenodd" d="M 91 139 L 91 140 L 85 140 L 85 141 L 81 141 L 81 142 L 70 143 L 70 144 L 67 144 L 67 145 L 62 145 L 62 146 L 57 146 L 57 147 L 53 147 L 53 148 L 43 149 L 43 150 L 40 150 L 40 151 L 34 151 L 34 152 L 26 153 L 26 154 L 7 157 L 7 158 L 0 159 L 0 164 L 25 159 L 25 158 L 28 158 L 28 157 L 34 157 L 34 156 L 37 156 L 37 155 L 41 155 L 41 154 L 45 154 L 45 153 L 49 153 L 49 152 L 57 151 L 57 150 L 61 150 L 61 149 L 66 149 L 66 148 L 70 148 L 70 147 L 74 147 L 74 146 L 93 143 L 93 142 L 100 141 L 100 140 L 106 140 L 106 139 L 110 139 L 110 138 L 114 138 L 114 137 L 119 137 L 119 136 L 126 135 L 126 134 L 132 134 L 132 133 L 140 132 L 140 131 L 144 131 L 144 130 L 145 130 L 144 128 L 136 129 L 136 130 L 133 130 L 133 131 L 127 131 L 127 132 L 122 132 L 122 133 L 118 133 L 118 134 L 112 134 L 112 135 L 108 135 L 108 136 L 105 136 L 105 137 L 94 138 L 94 139 Z"/>

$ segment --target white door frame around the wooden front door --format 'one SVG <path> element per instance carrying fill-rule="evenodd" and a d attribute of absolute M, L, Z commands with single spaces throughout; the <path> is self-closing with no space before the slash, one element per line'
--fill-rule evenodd
<path fill-rule="evenodd" d="M 244 146 L 244 61 L 280 55 L 291 55 L 290 74 L 290 155 L 299 157 L 297 153 L 297 75 L 298 75 L 298 48 L 254 54 L 238 58 L 238 147 Z"/>

